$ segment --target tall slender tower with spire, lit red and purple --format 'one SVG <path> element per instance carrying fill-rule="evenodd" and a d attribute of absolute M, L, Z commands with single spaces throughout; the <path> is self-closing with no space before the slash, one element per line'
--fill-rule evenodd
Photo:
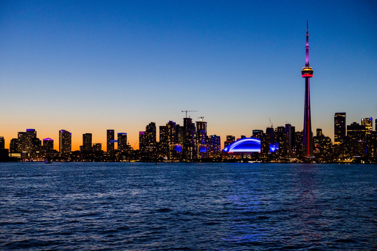
<path fill-rule="evenodd" d="M 309 79 L 313 77 L 313 69 L 309 66 L 309 32 L 307 21 L 307 46 L 305 67 L 302 67 L 301 76 L 305 78 L 305 110 L 304 110 L 304 129 L 302 135 L 303 156 L 313 157 L 313 135 L 311 132 L 310 119 L 310 85 Z"/>

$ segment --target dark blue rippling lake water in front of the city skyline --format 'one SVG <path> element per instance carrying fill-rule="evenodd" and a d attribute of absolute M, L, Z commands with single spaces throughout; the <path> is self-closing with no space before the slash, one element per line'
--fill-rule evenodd
<path fill-rule="evenodd" d="M 0 163 L 1 250 L 376 250 L 377 166 Z"/>

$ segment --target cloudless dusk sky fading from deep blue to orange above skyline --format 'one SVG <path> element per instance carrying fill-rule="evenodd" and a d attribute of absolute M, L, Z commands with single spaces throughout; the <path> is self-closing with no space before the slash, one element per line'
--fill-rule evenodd
<path fill-rule="evenodd" d="M 376 1 L 1 1 L 0 136 L 58 131 L 103 143 L 106 129 L 183 124 L 198 110 L 208 135 L 302 130 L 309 20 L 312 129 L 334 137 L 377 117 Z"/>

